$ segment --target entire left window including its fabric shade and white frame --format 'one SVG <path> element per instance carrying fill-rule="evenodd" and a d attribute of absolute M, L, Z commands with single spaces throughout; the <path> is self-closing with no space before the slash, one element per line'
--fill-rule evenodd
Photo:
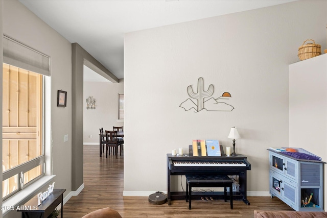
<path fill-rule="evenodd" d="M 36 181 L 43 183 L 53 177 L 51 110 L 47 108 L 51 105 L 50 57 L 3 36 L 3 58 L 2 162 L 5 205 L 7 199 L 8 202 L 18 202 L 25 197 L 19 195 L 21 189 L 26 188 L 25 193 L 31 194 L 35 188 L 30 184 Z"/>

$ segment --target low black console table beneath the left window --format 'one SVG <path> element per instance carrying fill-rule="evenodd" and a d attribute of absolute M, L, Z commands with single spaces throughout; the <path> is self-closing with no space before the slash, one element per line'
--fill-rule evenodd
<path fill-rule="evenodd" d="M 37 206 L 37 196 L 34 196 L 26 204 L 24 208 L 26 210 L 17 210 L 21 211 L 22 218 L 47 218 L 61 203 L 61 218 L 62 208 L 63 208 L 63 192 L 66 189 L 53 189 L 53 192 L 48 198 L 46 198 L 39 206 Z"/>

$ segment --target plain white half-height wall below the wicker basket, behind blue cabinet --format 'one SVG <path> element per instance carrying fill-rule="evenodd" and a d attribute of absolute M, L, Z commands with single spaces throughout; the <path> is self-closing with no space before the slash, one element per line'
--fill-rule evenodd
<path fill-rule="evenodd" d="M 327 161 L 327 54 L 291 64 L 289 68 L 290 146 L 306 149 Z M 326 187 L 324 180 L 324 208 Z"/>

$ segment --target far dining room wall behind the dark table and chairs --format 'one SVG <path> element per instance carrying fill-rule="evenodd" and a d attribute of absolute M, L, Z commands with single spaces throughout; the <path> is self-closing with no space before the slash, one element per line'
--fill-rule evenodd
<path fill-rule="evenodd" d="M 118 94 L 124 93 L 124 80 L 112 82 L 84 82 L 83 106 L 83 142 L 84 144 L 99 144 L 99 128 L 112 130 L 112 127 L 124 126 L 118 121 Z M 93 96 L 96 109 L 87 110 L 86 98 Z M 92 135 L 92 138 L 89 136 Z"/>

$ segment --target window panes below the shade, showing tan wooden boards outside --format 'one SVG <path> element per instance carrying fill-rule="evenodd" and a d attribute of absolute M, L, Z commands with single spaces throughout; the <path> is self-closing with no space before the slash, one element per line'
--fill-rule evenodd
<path fill-rule="evenodd" d="M 3 199 L 44 175 L 43 76 L 3 64 Z"/>

